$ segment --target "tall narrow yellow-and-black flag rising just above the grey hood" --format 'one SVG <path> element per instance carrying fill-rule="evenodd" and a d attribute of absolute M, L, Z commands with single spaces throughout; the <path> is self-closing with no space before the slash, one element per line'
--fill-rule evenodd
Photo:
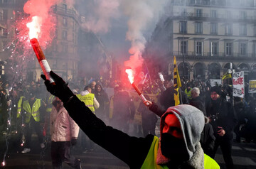
<path fill-rule="evenodd" d="M 181 78 L 178 75 L 176 57 L 174 56 L 174 101 L 175 106 L 180 104 L 178 89 L 181 87 Z"/>

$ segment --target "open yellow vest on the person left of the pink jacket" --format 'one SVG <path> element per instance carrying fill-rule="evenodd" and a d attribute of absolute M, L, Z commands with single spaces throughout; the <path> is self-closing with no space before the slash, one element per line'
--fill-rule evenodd
<path fill-rule="evenodd" d="M 23 102 L 23 110 L 26 111 L 26 119 L 25 122 L 29 123 L 31 115 L 35 119 L 35 121 L 40 121 L 40 112 L 39 108 L 41 107 L 41 99 L 36 99 L 36 102 L 33 103 L 32 109 L 31 106 L 29 105 L 28 100 Z"/>

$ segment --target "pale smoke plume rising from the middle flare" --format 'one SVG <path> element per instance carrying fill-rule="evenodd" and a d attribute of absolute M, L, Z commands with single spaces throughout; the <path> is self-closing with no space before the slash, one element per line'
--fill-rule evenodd
<path fill-rule="evenodd" d="M 129 0 L 124 1 L 124 4 L 122 4 L 124 14 L 129 17 L 129 21 L 127 22 L 127 40 L 131 41 L 132 45 L 129 49 L 131 56 L 129 60 L 124 62 L 124 66 L 132 67 L 133 70 L 142 66 L 144 62 L 142 53 L 144 52 L 146 43 L 144 32 L 149 31 L 147 26 L 158 21 L 157 16 L 163 4 L 164 1 L 159 2 L 154 0 Z"/>

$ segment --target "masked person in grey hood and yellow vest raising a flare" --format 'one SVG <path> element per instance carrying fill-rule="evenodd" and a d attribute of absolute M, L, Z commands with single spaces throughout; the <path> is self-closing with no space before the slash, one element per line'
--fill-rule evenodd
<path fill-rule="evenodd" d="M 63 101 L 68 114 L 82 131 L 130 168 L 220 168 L 201 148 L 199 141 L 205 118 L 196 107 L 188 104 L 169 107 L 161 117 L 160 139 L 150 134 L 137 138 L 106 126 L 80 102 L 61 77 L 52 71 L 50 76 L 55 85 L 41 75 L 48 91 Z"/>

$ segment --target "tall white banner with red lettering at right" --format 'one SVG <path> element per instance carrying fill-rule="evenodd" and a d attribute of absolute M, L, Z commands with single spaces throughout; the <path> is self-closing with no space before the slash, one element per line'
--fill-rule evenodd
<path fill-rule="evenodd" d="M 245 97 L 244 72 L 233 72 L 233 97 Z"/>

